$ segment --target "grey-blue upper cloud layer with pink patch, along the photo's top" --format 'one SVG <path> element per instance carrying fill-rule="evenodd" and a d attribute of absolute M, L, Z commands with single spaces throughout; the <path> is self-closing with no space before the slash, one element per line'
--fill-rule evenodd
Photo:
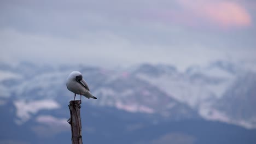
<path fill-rule="evenodd" d="M 68 36 L 86 31 L 131 30 L 139 25 L 170 27 L 182 23 L 207 27 L 214 23 L 210 26 L 217 28 L 252 25 L 248 6 L 237 1 L 7 1 L 2 5 L 2 27 Z"/>

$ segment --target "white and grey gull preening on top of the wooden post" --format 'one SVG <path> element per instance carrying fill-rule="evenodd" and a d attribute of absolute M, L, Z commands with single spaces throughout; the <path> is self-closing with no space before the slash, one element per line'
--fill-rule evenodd
<path fill-rule="evenodd" d="M 75 95 L 80 94 L 80 100 L 82 95 L 84 95 L 86 98 L 93 98 L 97 99 L 90 93 L 90 89 L 86 83 L 86 81 L 83 79 L 83 75 L 79 71 L 72 71 L 67 77 L 66 80 L 66 86 L 67 89 L 74 93 L 74 100 Z"/>

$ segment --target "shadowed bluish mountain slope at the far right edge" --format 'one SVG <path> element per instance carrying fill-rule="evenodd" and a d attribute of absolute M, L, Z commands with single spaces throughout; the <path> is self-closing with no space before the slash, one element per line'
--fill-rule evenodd
<path fill-rule="evenodd" d="M 247 128 L 256 128 L 256 73 L 248 72 L 237 77 L 222 98 L 213 105 L 216 111 Z"/>

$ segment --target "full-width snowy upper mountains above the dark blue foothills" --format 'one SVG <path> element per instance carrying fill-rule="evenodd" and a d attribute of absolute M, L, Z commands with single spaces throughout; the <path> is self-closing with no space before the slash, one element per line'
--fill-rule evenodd
<path fill-rule="evenodd" d="M 60 109 L 73 98 L 65 85 L 73 70 L 84 75 L 98 98 L 83 98 L 94 106 L 159 115 L 163 119 L 201 117 L 256 128 L 256 112 L 251 103 L 255 100 L 256 73 L 249 67 L 223 61 L 206 67 L 192 66 L 183 72 L 161 64 L 112 70 L 86 65 L 2 63 L 0 105 L 13 101 L 17 109 L 15 122 L 19 124 L 41 110 Z M 30 106 L 35 108 L 31 111 Z"/>

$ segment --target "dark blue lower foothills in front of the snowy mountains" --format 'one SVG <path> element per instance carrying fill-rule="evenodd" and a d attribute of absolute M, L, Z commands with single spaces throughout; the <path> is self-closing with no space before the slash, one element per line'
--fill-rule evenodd
<path fill-rule="evenodd" d="M 67 105 L 54 107 L 50 101 L 32 101 L 26 106 L 30 119 L 17 125 L 16 106 L 9 100 L 0 105 L 0 143 L 71 143 L 70 125 L 67 123 Z M 45 103 L 51 106 L 45 109 Z M 44 105 L 44 109 L 42 107 Z M 26 109 L 27 107 L 22 107 Z M 60 106 L 60 107 L 59 107 Z M 40 110 L 38 109 L 40 107 Z M 19 107 L 20 109 L 21 107 Z M 39 111 L 38 111 L 39 110 Z M 256 130 L 236 125 L 187 119 L 181 121 L 158 121 L 154 114 L 131 113 L 114 107 L 92 106 L 83 102 L 81 108 L 82 135 L 84 143 L 234 143 L 254 144 Z"/>

